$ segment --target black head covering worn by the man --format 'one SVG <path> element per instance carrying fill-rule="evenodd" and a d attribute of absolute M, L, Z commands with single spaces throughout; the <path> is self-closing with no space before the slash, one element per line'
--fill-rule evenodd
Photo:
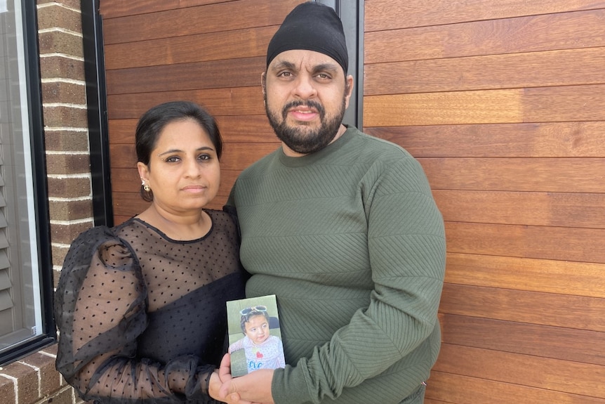
<path fill-rule="evenodd" d="M 308 1 L 296 6 L 281 23 L 267 48 L 267 67 L 284 51 L 305 49 L 330 56 L 349 69 L 343 23 L 330 6 Z"/>

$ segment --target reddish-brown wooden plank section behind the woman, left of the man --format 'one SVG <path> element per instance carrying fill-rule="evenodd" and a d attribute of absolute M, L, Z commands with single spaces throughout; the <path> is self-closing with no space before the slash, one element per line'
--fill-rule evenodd
<path fill-rule="evenodd" d="M 222 207 L 237 174 L 279 142 L 265 116 L 267 44 L 303 0 L 100 0 L 114 223 L 147 207 L 139 197 L 134 130 L 149 107 L 192 100 L 217 119 L 225 147 Z"/>

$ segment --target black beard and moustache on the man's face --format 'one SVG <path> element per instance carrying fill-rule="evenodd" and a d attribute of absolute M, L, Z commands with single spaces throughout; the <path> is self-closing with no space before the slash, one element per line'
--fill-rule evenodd
<path fill-rule="evenodd" d="M 300 105 L 306 105 L 307 107 L 314 108 L 317 110 L 317 112 L 319 112 L 321 125 L 319 128 L 317 128 L 317 130 L 309 132 L 298 127 L 288 126 L 286 124 L 288 110 L 291 110 L 293 107 L 300 107 Z M 302 155 L 317 152 L 325 148 L 330 144 L 331 141 L 333 141 L 334 136 L 336 136 L 336 133 L 338 133 L 340 124 L 343 123 L 343 117 L 345 116 L 345 105 L 346 99 L 343 97 L 343 104 L 340 106 L 340 111 L 338 111 L 338 114 L 334 115 L 333 117 L 326 118 L 326 110 L 323 106 L 321 106 L 321 104 L 317 103 L 317 101 L 293 101 L 284 106 L 284 108 L 281 110 L 281 119 L 279 119 L 279 117 L 277 117 L 276 114 L 273 114 L 269 110 L 269 107 L 267 107 L 267 96 L 265 95 L 265 111 L 267 112 L 269 123 L 275 131 L 277 138 L 284 142 L 288 148 Z"/>

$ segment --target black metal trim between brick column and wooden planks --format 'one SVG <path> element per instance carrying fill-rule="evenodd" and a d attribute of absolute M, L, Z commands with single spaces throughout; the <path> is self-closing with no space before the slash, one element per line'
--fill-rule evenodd
<path fill-rule="evenodd" d="M 88 110 L 88 136 L 91 148 L 91 181 L 95 226 L 113 226 L 109 129 L 102 18 L 99 0 L 81 0 L 84 40 L 84 74 Z"/>

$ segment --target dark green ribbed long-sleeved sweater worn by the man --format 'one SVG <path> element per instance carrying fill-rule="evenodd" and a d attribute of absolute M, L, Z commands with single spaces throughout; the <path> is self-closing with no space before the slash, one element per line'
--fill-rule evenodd
<path fill-rule="evenodd" d="M 280 149 L 241 173 L 246 297 L 276 294 L 286 355 L 276 404 L 400 403 L 430 374 L 441 334 L 441 214 L 420 164 L 349 126 L 324 150 Z"/>

